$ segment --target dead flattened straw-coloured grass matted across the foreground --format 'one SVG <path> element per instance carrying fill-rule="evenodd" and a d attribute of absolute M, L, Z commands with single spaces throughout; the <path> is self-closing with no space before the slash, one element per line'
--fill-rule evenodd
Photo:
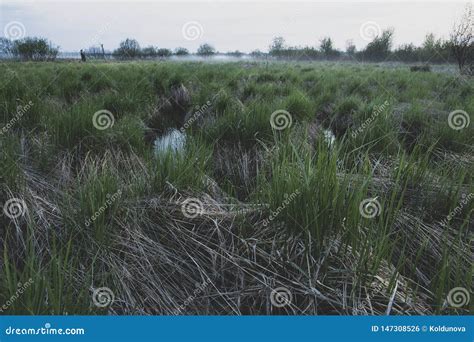
<path fill-rule="evenodd" d="M 143 177 L 143 162 L 137 156 L 110 153 L 105 160 L 87 159 L 77 168 L 70 158 L 63 158 L 58 163 L 57 183 L 25 169 L 28 187 L 23 196 L 29 211 L 10 227 L 18 251 L 11 258 L 20 262 L 28 253 L 30 239 L 35 244 L 35 257 L 47 268 L 53 237 L 68 242 L 64 225 L 68 213 L 58 203 L 64 200 L 65 188 L 71 186 L 64 175 L 81 177 L 85 164 L 100 168 L 115 161 L 116 167 L 127 165 L 132 174 Z M 126 197 L 120 213 L 109 217 L 106 245 L 83 235 L 77 227 L 74 239 L 82 241 L 73 243 L 84 247 L 78 256 L 83 267 L 63 269 L 75 279 L 69 290 L 81 293 L 89 282 L 113 288 L 116 299 L 107 309 L 111 314 L 381 315 L 435 311 L 430 305 L 433 294 L 423 281 L 415 283 L 404 277 L 389 260 L 383 260 L 375 272 L 361 270 L 359 253 L 337 236 L 315 258 L 304 234 L 290 235 L 278 222 L 262 224 L 268 215 L 265 205 L 239 202 L 212 179 L 207 183 L 208 193 L 180 192 L 170 184 L 160 197 Z M 200 214 L 193 218 L 186 217 L 182 209 L 190 197 L 201 204 Z M 427 252 L 439 259 L 435 246 L 441 243 L 441 233 L 420 223 L 425 235 L 417 231 L 414 235 L 419 241 L 413 239 L 416 217 L 406 215 L 398 220 L 397 234 L 409 235 L 413 252 L 428 239 L 433 248 Z M 28 233 L 25 224 L 31 221 L 35 229 Z M 87 269 L 91 260 L 95 265 L 92 279 Z M 430 264 L 428 258 L 422 260 L 417 266 L 420 279 Z M 291 303 L 282 308 L 270 300 L 277 287 L 292 294 Z M 88 309 L 94 312 L 93 307 Z"/>

